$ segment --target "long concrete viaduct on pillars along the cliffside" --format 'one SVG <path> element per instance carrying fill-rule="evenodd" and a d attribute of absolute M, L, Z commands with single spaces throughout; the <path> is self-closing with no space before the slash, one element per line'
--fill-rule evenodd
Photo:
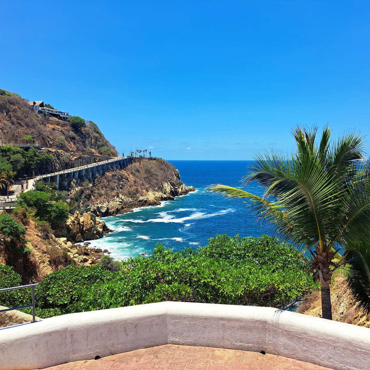
<path fill-rule="evenodd" d="M 33 183 L 35 181 L 55 182 L 57 189 L 60 184 L 67 187 L 68 180 L 75 179 L 77 183 L 87 179 L 91 180 L 96 174 L 102 175 L 109 169 L 122 169 L 126 167 L 132 162 L 132 159 L 132 157 L 118 157 L 81 167 L 65 169 L 64 171 L 54 172 L 52 174 L 40 175 L 34 178 Z"/>

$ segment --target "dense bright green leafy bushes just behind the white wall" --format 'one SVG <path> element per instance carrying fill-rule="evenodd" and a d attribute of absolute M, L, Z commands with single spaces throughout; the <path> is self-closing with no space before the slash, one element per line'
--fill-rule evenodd
<path fill-rule="evenodd" d="M 12 270 L 2 269 L 3 281 L 16 284 Z M 218 235 L 197 250 L 158 245 L 148 258 L 70 265 L 44 277 L 36 304 L 40 317 L 165 300 L 289 308 L 314 289 L 300 252 L 290 244 L 266 235 Z M 29 297 L 12 299 L 0 295 L 4 305 Z"/>

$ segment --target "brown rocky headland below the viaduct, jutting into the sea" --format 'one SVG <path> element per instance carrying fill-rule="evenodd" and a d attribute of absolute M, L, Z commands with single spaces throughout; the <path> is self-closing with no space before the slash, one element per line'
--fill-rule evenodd
<path fill-rule="evenodd" d="M 71 212 L 91 211 L 97 216 L 110 216 L 158 205 L 194 190 L 181 182 L 173 165 L 163 159 L 141 158 L 122 170 L 97 176 L 94 182 L 72 184 L 67 202 Z"/>

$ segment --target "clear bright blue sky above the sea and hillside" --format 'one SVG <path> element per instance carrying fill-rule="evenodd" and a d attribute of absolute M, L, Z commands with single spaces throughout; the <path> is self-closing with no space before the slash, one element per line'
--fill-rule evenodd
<path fill-rule="evenodd" d="M 370 140 L 369 19 L 369 1 L 3 0 L 0 88 L 125 155 L 251 159 L 326 122 Z"/>

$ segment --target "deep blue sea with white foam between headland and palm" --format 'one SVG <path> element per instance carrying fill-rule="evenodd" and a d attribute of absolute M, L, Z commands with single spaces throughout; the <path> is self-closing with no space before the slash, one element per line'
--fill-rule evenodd
<path fill-rule="evenodd" d="M 260 236 L 269 233 L 262 222 L 247 214 L 248 205 L 241 199 L 225 199 L 205 190 L 211 184 L 240 187 L 249 161 L 169 161 L 179 170 L 181 180 L 193 185 L 195 192 L 164 201 L 159 206 L 135 209 L 134 212 L 102 218 L 114 229 L 91 246 L 108 249 L 115 259 L 126 259 L 139 253 L 152 253 L 156 243 L 174 250 L 206 245 L 218 233 L 234 236 Z M 247 191 L 262 195 L 258 184 Z"/>

